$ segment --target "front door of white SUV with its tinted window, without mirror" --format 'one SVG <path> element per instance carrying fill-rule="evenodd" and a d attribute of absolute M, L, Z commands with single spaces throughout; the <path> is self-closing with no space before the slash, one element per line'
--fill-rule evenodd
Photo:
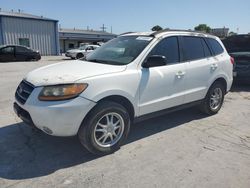
<path fill-rule="evenodd" d="M 139 115 L 183 104 L 186 63 L 180 63 L 178 37 L 162 39 L 149 56 L 165 56 L 166 65 L 141 69 Z"/>

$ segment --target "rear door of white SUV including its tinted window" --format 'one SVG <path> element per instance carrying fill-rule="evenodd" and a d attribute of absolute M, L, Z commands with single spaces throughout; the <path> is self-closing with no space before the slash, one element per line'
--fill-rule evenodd
<path fill-rule="evenodd" d="M 216 72 L 215 59 L 203 37 L 183 36 L 183 60 L 187 62 L 185 103 L 203 99 Z"/>

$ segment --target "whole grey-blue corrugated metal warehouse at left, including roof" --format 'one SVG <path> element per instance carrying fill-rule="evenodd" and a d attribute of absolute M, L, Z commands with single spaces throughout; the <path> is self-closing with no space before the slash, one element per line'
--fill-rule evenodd
<path fill-rule="evenodd" d="M 0 11 L 0 45 L 18 44 L 41 55 L 60 52 L 58 21 L 20 12 Z"/>

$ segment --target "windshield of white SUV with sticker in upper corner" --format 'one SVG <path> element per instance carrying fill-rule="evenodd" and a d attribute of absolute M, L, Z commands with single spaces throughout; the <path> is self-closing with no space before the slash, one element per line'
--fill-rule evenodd
<path fill-rule="evenodd" d="M 103 64 L 126 65 L 132 62 L 152 39 L 146 36 L 121 36 L 87 55 L 86 60 Z"/>

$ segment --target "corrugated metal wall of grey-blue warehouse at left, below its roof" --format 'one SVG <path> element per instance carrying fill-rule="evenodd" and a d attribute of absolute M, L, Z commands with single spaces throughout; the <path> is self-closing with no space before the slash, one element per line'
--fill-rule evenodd
<path fill-rule="evenodd" d="M 14 17 L 2 17 L 4 44 L 19 44 L 19 38 L 28 38 L 30 48 L 41 55 L 58 54 L 57 23 Z"/>

